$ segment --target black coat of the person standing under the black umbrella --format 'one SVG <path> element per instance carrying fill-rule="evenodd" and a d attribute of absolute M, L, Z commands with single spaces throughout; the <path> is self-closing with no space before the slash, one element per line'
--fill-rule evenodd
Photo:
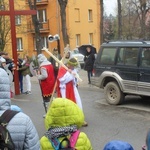
<path fill-rule="evenodd" d="M 84 70 L 92 71 L 95 61 L 95 55 L 93 53 L 87 53 L 84 57 Z"/>

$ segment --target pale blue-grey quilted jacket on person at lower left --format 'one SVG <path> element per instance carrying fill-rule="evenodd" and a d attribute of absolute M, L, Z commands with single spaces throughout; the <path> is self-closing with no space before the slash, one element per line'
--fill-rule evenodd
<path fill-rule="evenodd" d="M 10 82 L 6 71 L 0 68 L 0 116 L 11 109 Z M 15 150 L 39 150 L 39 136 L 31 119 L 26 114 L 17 113 L 8 123 L 7 129 L 15 144 Z"/>

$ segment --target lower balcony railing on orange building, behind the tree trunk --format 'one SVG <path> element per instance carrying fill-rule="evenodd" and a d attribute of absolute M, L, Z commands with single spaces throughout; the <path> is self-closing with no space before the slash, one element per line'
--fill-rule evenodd
<path fill-rule="evenodd" d="M 49 32 L 49 20 L 47 20 L 47 22 L 40 22 L 39 23 L 39 27 L 40 27 L 40 32 L 41 33 L 47 33 Z M 34 25 L 33 25 L 33 22 L 30 21 L 28 24 L 27 24 L 27 31 L 28 32 L 32 32 L 34 33 L 35 30 L 34 30 Z"/>

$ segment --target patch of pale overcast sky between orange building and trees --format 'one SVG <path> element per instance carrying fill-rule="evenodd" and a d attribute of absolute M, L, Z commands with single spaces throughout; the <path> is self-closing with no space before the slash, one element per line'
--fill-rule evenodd
<path fill-rule="evenodd" d="M 103 2 L 104 12 L 106 12 L 107 15 L 116 15 L 117 0 L 103 0 Z"/>

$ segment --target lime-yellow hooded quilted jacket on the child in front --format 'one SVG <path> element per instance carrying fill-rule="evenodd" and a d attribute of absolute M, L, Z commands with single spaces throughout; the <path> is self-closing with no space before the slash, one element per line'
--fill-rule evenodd
<path fill-rule="evenodd" d="M 66 98 L 56 98 L 52 101 L 51 106 L 45 118 L 45 127 L 66 127 L 76 125 L 79 129 L 84 122 L 84 114 L 77 104 Z M 58 138 L 61 142 L 64 137 Z M 68 136 L 69 138 L 69 136 Z M 41 150 L 54 150 L 48 137 L 43 136 L 40 139 Z M 80 132 L 75 148 L 78 150 L 92 150 L 92 145 L 87 135 Z"/>

